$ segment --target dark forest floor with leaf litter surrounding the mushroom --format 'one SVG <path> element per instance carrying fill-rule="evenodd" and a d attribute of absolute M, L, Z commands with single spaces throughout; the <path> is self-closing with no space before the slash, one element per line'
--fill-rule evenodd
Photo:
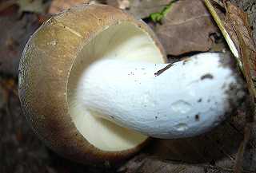
<path fill-rule="evenodd" d="M 167 142 L 158 140 L 157 144 L 150 144 L 122 165 L 106 165 L 105 168 L 89 167 L 63 159 L 38 140 L 22 115 L 18 99 L 18 63 L 22 50 L 30 35 L 50 16 L 81 2 L 85 0 L 0 1 L 0 173 L 234 172 L 246 125 L 242 115 L 231 117 L 221 127 L 203 136 Z M 161 12 L 170 0 L 98 2 L 116 6 L 134 14 L 136 18 L 142 18 L 159 37 L 170 61 L 198 52 L 229 51 L 222 34 L 200 0 L 174 2 L 161 22 L 156 22 L 152 14 Z M 256 1 L 231 2 L 248 14 L 256 41 Z M 178 13 L 182 10 L 187 13 Z M 176 21 L 182 21 L 181 25 L 176 26 Z M 253 126 L 250 141 L 243 153 L 241 172 L 256 172 L 255 146 Z M 153 155 L 158 147 L 167 149 Z"/>

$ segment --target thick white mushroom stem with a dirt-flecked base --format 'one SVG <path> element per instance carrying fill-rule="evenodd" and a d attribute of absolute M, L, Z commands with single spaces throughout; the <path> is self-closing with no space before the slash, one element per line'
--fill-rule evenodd
<path fill-rule="evenodd" d="M 201 53 L 169 69 L 168 64 L 96 61 L 78 83 L 78 101 L 101 118 L 147 136 L 196 136 L 220 124 L 231 102 L 244 96 L 240 77 L 222 58 Z"/>

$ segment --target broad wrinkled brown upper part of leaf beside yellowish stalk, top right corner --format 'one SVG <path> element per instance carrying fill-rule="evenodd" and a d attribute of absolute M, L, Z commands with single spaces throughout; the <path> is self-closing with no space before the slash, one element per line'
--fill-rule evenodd
<path fill-rule="evenodd" d="M 256 90 L 254 81 L 256 79 L 256 49 L 252 38 L 248 16 L 237 6 L 226 3 L 226 19 L 230 25 L 228 32 L 238 47 L 246 81 L 251 96 L 255 98 Z M 253 99 L 254 99 L 253 98 Z M 254 100 L 252 100 L 254 102 Z"/>

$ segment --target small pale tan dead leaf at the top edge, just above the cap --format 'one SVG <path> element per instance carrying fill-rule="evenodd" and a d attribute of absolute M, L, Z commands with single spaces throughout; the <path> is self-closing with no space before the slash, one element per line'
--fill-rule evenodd
<path fill-rule="evenodd" d="M 53 0 L 50 5 L 49 13 L 58 14 L 62 10 L 69 9 L 71 6 L 88 2 L 90 2 L 90 0 Z"/>

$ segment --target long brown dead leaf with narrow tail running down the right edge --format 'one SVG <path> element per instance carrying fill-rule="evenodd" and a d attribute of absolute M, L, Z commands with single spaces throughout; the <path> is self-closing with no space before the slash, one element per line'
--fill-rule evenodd
<path fill-rule="evenodd" d="M 255 97 L 256 97 L 256 49 L 250 29 L 248 15 L 237 6 L 226 2 L 226 28 L 230 33 L 242 59 L 243 72 L 246 77 L 247 86 L 250 92 L 250 100 L 246 110 L 246 127 L 244 140 L 238 150 L 234 172 L 242 172 L 243 159 L 246 152 L 246 145 L 250 140 L 252 127 L 255 118 Z"/>

